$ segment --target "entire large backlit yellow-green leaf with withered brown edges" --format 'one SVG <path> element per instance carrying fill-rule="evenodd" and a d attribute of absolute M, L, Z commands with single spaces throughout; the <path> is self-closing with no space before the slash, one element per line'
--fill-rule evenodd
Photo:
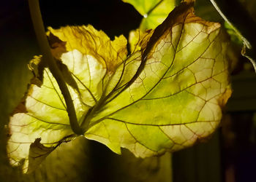
<path fill-rule="evenodd" d="M 138 31 L 128 57 L 124 36 L 110 41 L 91 25 L 49 30 L 54 57 L 76 82 L 69 84 L 69 92 L 86 138 L 118 154 L 123 147 L 150 157 L 192 146 L 218 127 L 231 93 L 228 43 L 219 23 L 195 17 L 192 4 L 176 7 L 154 31 Z M 10 120 L 10 160 L 15 165 L 25 159 L 24 170 L 39 165 L 29 160 L 29 146 L 33 158 L 39 151 L 43 159 L 75 137 L 48 68 L 43 78 L 42 86 L 33 80 L 26 112 Z"/>

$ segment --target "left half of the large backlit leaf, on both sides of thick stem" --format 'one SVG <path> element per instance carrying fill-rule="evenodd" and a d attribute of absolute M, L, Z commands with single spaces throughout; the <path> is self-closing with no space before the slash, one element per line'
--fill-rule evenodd
<path fill-rule="evenodd" d="M 120 36 L 110 41 L 105 33 L 96 31 L 91 25 L 66 27 L 54 33 L 62 39 L 61 42 L 59 41 L 60 44 L 56 44 L 56 37 L 48 33 L 53 56 L 62 61 L 59 63 L 60 60 L 57 60 L 57 63 L 66 82 L 70 84 L 69 92 L 78 122 L 81 124 L 86 112 L 101 97 L 103 87 L 105 85 L 110 87 L 108 79 L 115 72 L 116 66 L 126 58 L 127 40 L 124 36 Z M 82 44 L 80 40 L 83 40 Z M 64 48 L 63 42 L 67 42 Z M 34 78 L 31 79 L 26 93 L 26 102 L 22 102 L 17 107 L 9 124 L 11 137 L 7 151 L 10 162 L 12 165 L 23 162 L 24 172 L 28 171 L 28 168 L 28 172 L 33 171 L 42 162 L 38 159 L 32 162 L 29 159 L 31 143 L 36 142 L 38 138 L 41 138 L 42 145 L 52 149 L 75 136 L 69 126 L 67 108 L 58 84 L 49 69 L 39 60 L 40 57 L 35 57 L 29 64 Z M 72 84 L 74 80 L 75 84 Z M 40 155 L 41 159 L 48 154 L 47 152 Z"/>

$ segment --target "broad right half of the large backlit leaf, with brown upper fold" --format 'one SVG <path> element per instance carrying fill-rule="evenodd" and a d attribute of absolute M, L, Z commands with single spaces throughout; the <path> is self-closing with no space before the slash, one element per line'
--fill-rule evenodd
<path fill-rule="evenodd" d="M 124 147 L 149 157 L 192 146 L 214 132 L 231 92 L 226 35 L 219 23 L 192 11 L 182 4 L 154 31 L 143 70 L 105 101 L 90 120 L 87 138 L 116 153 Z"/>

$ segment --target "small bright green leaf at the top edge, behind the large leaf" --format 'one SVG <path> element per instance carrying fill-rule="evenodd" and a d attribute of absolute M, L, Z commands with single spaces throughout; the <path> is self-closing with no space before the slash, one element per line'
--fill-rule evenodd
<path fill-rule="evenodd" d="M 176 3 L 175 0 L 122 0 L 132 4 L 140 15 L 143 15 L 143 20 L 140 23 L 140 29 L 154 29 L 161 24 L 167 15 L 173 10 Z"/>

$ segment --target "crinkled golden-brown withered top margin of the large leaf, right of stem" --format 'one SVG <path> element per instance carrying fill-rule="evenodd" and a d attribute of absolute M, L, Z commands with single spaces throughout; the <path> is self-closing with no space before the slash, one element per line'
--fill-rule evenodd
<path fill-rule="evenodd" d="M 116 71 L 116 67 L 127 57 L 127 39 L 122 35 L 110 41 L 103 31 L 97 31 L 91 25 L 48 30 L 48 35 L 53 33 L 61 41 L 67 42 L 67 52 L 78 50 L 83 55 L 91 55 L 110 73 Z"/>

